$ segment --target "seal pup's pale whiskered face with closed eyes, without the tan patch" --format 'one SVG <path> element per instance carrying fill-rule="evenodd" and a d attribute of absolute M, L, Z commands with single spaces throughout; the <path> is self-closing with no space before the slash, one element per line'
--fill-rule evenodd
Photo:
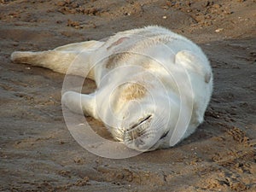
<path fill-rule="evenodd" d="M 128 148 L 148 151 L 168 132 L 169 108 L 163 98 L 150 96 L 125 102 L 119 110 L 119 121 L 111 128 L 113 137 Z"/>

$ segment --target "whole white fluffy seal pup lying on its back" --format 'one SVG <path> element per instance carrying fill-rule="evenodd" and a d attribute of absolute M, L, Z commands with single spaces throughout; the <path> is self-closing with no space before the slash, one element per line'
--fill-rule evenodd
<path fill-rule="evenodd" d="M 17 51 L 11 59 L 95 80 L 94 93 L 67 91 L 62 102 L 102 120 L 113 138 L 138 151 L 169 148 L 188 137 L 203 122 L 212 95 L 207 56 L 160 26 L 118 32 L 106 41 Z"/>

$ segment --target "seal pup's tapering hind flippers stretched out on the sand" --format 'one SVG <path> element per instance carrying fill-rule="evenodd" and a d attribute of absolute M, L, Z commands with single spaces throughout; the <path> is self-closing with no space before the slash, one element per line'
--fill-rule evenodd
<path fill-rule="evenodd" d="M 67 44 L 56 49 L 46 51 L 15 51 L 11 60 L 15 63 L 26 63 L 32 66 L 49 68 L 57 73 L 72 73 L 86 76 L 90 71 L 90 54 L 102 46 L 103 42 L 88 41 L 77 44 Z M 72 70 L 68 70 L 69 67 Z M 93 74 L 89 78 L 93 79 Z"/>

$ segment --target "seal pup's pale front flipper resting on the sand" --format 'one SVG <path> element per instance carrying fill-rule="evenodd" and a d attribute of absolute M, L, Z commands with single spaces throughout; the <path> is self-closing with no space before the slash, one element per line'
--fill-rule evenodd
<path fill-rule="evenodd" d="M 83 113 L 86 116 L 99 119 L 96 113 L 96 97 L 94 94 L 80 94 L 67 91 L 62 95 L 62 104 L 74 113 Z"/>

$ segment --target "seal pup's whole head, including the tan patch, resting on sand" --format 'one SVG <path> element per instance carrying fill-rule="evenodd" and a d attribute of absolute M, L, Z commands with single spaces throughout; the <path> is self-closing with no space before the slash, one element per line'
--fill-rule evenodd
<path fill-rule="evenodd" d="M 113 112 L 118 119 L 110 128 L 113 137 L 138 151 L 157 148 L 172 127 L 170 118 L 176 113 L 172 101 L 161 90 L 148 92 L 146 86 L 137 83 L 122 84 L 117 94 Z"/>

